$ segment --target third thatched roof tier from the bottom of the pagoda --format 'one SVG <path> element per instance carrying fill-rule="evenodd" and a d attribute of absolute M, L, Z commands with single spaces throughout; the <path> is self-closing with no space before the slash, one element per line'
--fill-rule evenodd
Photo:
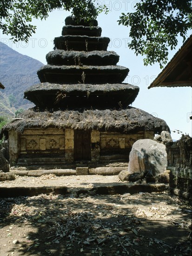
<path fill-rule="evenodd" d="M 55 66 L 45 65 L 37 71 L 40 82 L 50 83 L 121 83 L 129 69 L 122 66 Z"/>

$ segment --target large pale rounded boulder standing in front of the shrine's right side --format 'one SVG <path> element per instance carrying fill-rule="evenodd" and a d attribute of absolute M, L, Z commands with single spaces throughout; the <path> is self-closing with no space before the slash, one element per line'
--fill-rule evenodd
<path fill-rule="evenodd" d="M 153 176 L 164 173 L 167 163 L 166 146 L 157 141 L 138 140 L 132 145 L 128 172 L 148 171 Z"/>

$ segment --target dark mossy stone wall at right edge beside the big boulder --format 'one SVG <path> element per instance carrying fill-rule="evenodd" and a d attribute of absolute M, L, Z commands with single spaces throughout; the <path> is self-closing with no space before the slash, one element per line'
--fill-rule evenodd
<path fill-rule="evenodd" d="M 192 138 L 166 144 L 167 169 L 170 170 L 170 191 L 192 200 Z M 179 144 L 180 143 L 180 144 Z"/>

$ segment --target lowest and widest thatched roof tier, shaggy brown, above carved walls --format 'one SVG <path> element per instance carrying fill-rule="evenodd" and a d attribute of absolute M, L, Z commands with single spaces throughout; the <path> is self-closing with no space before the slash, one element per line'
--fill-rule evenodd
<path fill-rule="evenodd" d="M 15 119 L 1 130 L 8 136 L 8 131 L 14 129 L 23 133 L 28 128 L 72 128 L 82 130 L 99 130 L 119 133 L 136 133 L 139 131 L 154 131 L 160 134 L 169 131 L 166 122 L 139 109 L 129 107 L 123 110 L 82 110 L 82 111 L 38 111 L 38 108 L 28 109 L 20 114 L 21 119 Z"/>

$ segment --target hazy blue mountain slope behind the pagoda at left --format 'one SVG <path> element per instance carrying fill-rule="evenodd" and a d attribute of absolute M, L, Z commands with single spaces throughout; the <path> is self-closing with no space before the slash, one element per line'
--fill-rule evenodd
<path fill-rule="evenodd" d="M 24 91 L 38 83 L 37 70 L 43 63 L 20 54 L 0 42 L 0 81 L 5 86 L 0 90 L 0 113 L 7 108 L 15 112 L 19 108 L 29 108 L 33 104 L 24 100 Z"/>

